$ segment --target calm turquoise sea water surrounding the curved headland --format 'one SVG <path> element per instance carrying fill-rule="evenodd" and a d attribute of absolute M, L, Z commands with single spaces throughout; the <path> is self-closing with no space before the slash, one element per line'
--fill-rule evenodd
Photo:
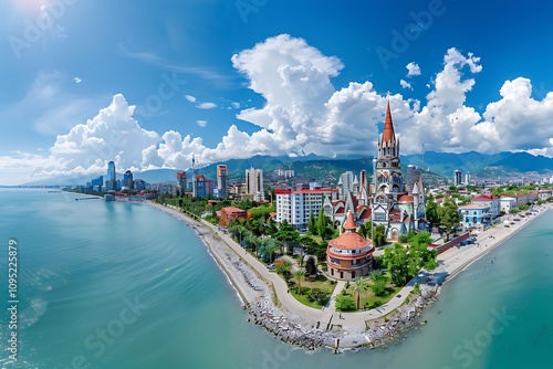
<path fill-rule="evenodd" d="M 428 324 L 332 355 L 247 321 L 195 231 L 147 205 L 0 190 L 2 368 L 553 368 L 553 212 L 447 283 Z M 18 361 L 7 348 L 18 242 Z M 493 262 L 493 263 L 492 263 Z"/>

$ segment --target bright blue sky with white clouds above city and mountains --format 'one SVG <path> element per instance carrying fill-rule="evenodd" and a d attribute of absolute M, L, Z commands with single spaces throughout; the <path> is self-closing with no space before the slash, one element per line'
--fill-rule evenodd
<path fill-rule="evenodd" d="M 109 160 L 369 157 L 387 101 L 403 154 L 553 156 L 552 7 L 4 0 L 0 184 Z"/>

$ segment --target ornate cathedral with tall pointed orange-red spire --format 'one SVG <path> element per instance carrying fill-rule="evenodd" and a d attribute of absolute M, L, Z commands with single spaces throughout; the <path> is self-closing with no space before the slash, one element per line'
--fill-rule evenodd
<path fill-rule="evenodd" d="M 373 180 L 368 183 L 366 171 L 359 177 L 347 173 L 338 182 L 341 199 L 326 199 L 323 209 L 336 226 L 341 226 L 348 211 L 357 224 L 372 220 L 386 228 L 386 236 L 397 241 L 409 231 L 425 230 L 425 189 L 422 175 L 417 167 L 407 168 L 407 181 L 401 175 L 399 138 L 394 131 L 389 103 L 384 119 L 384 130 L 378 139 L 378 155 L 373 159 Z M 345 184 L 345 178 L 353 178 Z"/>

